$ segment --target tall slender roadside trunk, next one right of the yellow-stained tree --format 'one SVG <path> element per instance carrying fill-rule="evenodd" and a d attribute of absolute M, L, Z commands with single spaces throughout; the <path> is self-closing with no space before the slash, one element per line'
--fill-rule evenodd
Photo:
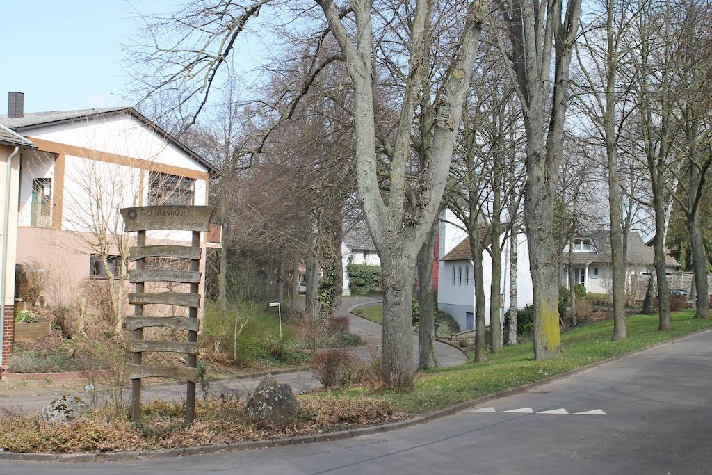
<path fill-rule="evenodd" d="M 613 291 L 613 336 L 612 340 L 625 340 L 625 275 L 627 256 L 623 254 L 623 231 L 621 223 L 620 179 L 618 177 L 618 143 L 615 132 L 615 79 L 617 51 L 613 39 L 615 0 L 607 0 L 606 19 L 606 105 L 604 132 L 608 165 L 608 210 L 611 221 L 611 266 Z"/>

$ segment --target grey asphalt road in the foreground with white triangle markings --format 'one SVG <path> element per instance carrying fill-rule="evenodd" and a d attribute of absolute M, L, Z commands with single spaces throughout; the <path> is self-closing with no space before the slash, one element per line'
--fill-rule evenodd
<path fill-rule="evenodd" d="M 710 473 L 711 375 L 708 331 L 395 432 L 178 459 L 100 464 L 0 461 L 0 473 Z M 503 412 L 512 409 L 520 412 Z M 537 414 L 541 411 L 554 413 Z M 575 414 L 590 411 L 594 413 Z"/>

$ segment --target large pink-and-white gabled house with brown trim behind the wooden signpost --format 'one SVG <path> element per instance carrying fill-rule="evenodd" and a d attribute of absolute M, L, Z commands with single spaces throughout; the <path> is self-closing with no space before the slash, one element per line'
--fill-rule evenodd
<path fill-rule="evenodd" d="M 18 212 L 16 259 L 51 273 L 48 301 L 72 298 L 80 283 L 106 278 L 100 246 L 111 266 L 121 266 L 120 208 L 207 204 L 216 169 L 133 108 L 24 113 L 22 102 L 21 93 L 10 93 L 10 103 L 20 106 L 0 115 L 1 125 L 36 147 L 24 148 L 18 160 L 19 192 L 11 204 Z M 190 239 L 190 231 L 147 233 L 147 244 Z M 201 236 L 203 272 L 206 247 L 216 243 L 218 229 Z"/>

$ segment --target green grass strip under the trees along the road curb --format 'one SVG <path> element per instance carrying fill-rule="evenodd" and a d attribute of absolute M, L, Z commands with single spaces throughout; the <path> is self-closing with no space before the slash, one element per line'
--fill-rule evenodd
<path fill-rule="evenodd" d="M 376 308 L 380 310 L 380 307 Z M 395 394 L 386 391 L 371 397 L 393 402 L 397 409 L 406 412 L 424 413 L 441 409 L 712 328 L 712 320 L 694 319 L 693 315 L 694 310 L 674 313 L 673 329 L 667 332 L 656 331 L 657 315 L 631 315 L 627 318 L 628 339 L 619 342 L 610 340 L 612 320 L 593 323 L 561 335 L 562 357 L 535 361 L 533 343 L 507 346 L 501 352 L 488 353 L 487 362 L 474 364 L 470 360 L 464 365 L 424 372 L 418 377 L 416 390 L 412 393 Z M 357 387 L 325 394 L 347 397 L 366 393 L 366 388 Z"/>

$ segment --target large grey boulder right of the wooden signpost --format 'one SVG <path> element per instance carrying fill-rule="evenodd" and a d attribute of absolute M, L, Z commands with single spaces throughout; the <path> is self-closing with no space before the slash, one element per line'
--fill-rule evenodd
<path fill-rule="evenodd" d="M 247 401 L 246 412 L 251 422 L 284 427 L 297 417 L 299 403 L 290 385 L 266 375 Z"/>

